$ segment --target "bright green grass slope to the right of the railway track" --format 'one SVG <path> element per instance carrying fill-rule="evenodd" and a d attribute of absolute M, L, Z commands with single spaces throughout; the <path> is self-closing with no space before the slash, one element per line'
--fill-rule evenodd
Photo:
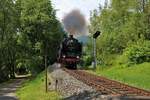
<path fill-rule="evenodd" d="M 133 65 L 131 67 L 117 65 L 104 68 L 98 66 L 92 73 L 150 90 L 150 63 Z"/>

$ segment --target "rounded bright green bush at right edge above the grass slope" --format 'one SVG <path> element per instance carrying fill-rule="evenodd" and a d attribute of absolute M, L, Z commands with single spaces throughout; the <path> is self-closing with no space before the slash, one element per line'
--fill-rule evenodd
<path fill-rule="evenodd" d="M 139 41 L 125 49 L 129 63 L 140 64 L 150 62 L 150 41 Z"/>

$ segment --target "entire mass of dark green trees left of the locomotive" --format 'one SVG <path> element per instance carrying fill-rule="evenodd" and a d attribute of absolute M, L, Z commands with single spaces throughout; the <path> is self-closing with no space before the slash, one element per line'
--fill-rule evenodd
<path fill-rule="evenodd" d="M 56 60 L 64 31 L 55 13 L 50 0 L 0 1 L 0 82 Z"/>

